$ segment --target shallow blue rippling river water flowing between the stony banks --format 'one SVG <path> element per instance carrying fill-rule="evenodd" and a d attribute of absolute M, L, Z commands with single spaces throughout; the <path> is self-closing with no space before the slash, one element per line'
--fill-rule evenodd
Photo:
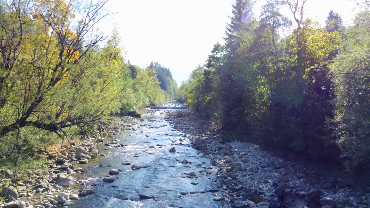
<path fill-rule="evenodd" d="M 95 194 L 74 201 L 70 208 L 228 208 L 229 202 L 214 201 L 212 198 L 221 196 L 220 192 L 210 192 L 218 187 L 215 180 L 216 172 L 212 169 L 210 160 L 203 157 L 201 152 L 191 147 L 190 141 L 180 144 L 184 138 L 181 131 L 165 121 L 157 111 L 155 115 L 145 115 L 144 121 L 134 121 L 134 130 L 115 135 L 107 141 L 118 139 L 127 146 L 121 148 L 106 148 L 107 156 L 103 160 L 81 166 L 85 175 L 75 175 L 80 180 L 86 180 L 94 186 Z M 159 146 L 162 145 L 162 146 Z M 175 147 L 176 152 L 169 152 Z M 135 156 L 136 155 L 136 156 Z M 135 157 L 134 157 L 135 156 Z M 185 164 L 182 161 L 188 160 Z M 122 165 L 128 161 L 131 165 L 148 165 L 147 168 L 131 170 L 131 165 Z M 201 167 L 196 165 L 202 164 Z M 112 165 L 112 167 L 109 167 Z M 108 166 L 108 167 L 107 167 Z M 103 182 L 111 168 L 122 169 L 123 172 L 114 176 L 112 183 Z M 206 172 L 202 172 L 205 171 Z M 201 172 L 199 172 L 201 171 Z M 183 178 L 184 174 L 195 172 L 194 178 Z M 198 182 L 197 185 L 191 182 Z M 204 192 L 189 194 L 193 192 Z M 181 193 L 181 194 L 180 194 Z M 185 194 L 186 195 L 183 195 Z M 155 197 L 155 199 L 139 198 L 140 194 Z"/>

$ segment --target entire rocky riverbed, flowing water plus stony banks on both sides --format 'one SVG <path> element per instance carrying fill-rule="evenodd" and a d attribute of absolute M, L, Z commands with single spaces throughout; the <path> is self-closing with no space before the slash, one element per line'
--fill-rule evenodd
<path fill-rule="evenodd" d="M 217 128 L 190 111 L 150 112 L 61 148 L 16 184 L 5 180 L 0 207 L 369 207 L 369 195 L 342 178 L 254 144 L 219 142 Z"/>

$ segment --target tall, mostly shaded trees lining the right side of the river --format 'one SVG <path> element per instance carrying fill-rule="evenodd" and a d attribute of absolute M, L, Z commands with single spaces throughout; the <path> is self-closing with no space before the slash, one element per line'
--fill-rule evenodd
<path fill-rule="evenodd" d="M 181 84 L 178 100 L 229 140 L 368 167 L 369 4 L 348 27 L 334 11 L 322 27 L 306 17 L 306 1 L 268 0 L 254 14 L 252 1 L 234 0 L 225 43 Z"/>

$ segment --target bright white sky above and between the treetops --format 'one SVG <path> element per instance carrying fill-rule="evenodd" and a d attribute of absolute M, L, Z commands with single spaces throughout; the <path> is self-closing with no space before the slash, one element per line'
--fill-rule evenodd
<path fill-rule="evenodd" d="M 232 0 L 109 0 L 107 9 L 118 13 L 109 16 L 103 27 L 110 31 L 117 24 L 126 60 L 140 67 L 157 61 L 180 84 L 205 63 L 213 44 L 224 42 L 231 5 Z M 256 16 L 261 5 L 253 10 Z M 307 0 L 305 4 L 306 14 L 323 26 L 331 9 L 346 25 L 358 11 L 353 0 Z"/>

